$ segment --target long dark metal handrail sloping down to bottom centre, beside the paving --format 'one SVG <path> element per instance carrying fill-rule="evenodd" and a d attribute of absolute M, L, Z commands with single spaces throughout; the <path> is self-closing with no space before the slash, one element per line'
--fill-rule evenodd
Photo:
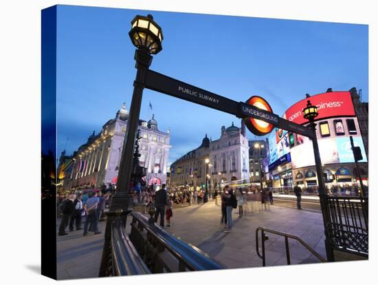
<path fill-rule="evenodd" d="M 149 223 L 148 219 L 142 215 L 142 213 L 133 212 L 131 215 L 142 224 L 142 227 L 146 229 L 159 244 L 164 246 L 165 249 L 172 253 L 172 255 L 175 256 L 179 262 L 182 262 L 190 271 L 223 269 L 221 264 L 212 260 L 212 258 L 201 251 L 201 249 L 180 240 L 175 235 L 165 231 L 161 226 Z"/>

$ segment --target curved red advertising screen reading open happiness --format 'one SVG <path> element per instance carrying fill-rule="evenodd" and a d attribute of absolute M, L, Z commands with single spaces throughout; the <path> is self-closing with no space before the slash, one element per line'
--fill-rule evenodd
<path fill-rule="evenodd" d="M 316 120 L 333 116 L 355 116 L 355 109 L 349 92 L 329 92 L 310 96 L 291 106 L 284 114 L 284 118 L 293 123 L 303 124 L 307 120 L 303 118 L 303 108 L 307 100 L 318 107 L 319 115 Z"/>

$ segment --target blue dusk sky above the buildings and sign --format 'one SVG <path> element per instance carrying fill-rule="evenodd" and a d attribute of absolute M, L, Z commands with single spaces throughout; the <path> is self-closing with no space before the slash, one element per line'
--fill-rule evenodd
<path fill-rule="evenodd" d="M 129 109 L 136 70 L 128 32 L 136 14 L 153 14 L 163 29 L 151 70 L 180 81 L 234 101 L 263 96 L 279 115 L 329 87 L 357 87 L 368 101 L 368 25 L 58 6 L 58 156 L 97 134 L 123 102 Z M 145 89 L 140 118 L 152 113 L 160 130 L 170 127 L 169 162 L 206 133 L 217 139 L 222 125 L 240 126 L 230 114 Z"/>

